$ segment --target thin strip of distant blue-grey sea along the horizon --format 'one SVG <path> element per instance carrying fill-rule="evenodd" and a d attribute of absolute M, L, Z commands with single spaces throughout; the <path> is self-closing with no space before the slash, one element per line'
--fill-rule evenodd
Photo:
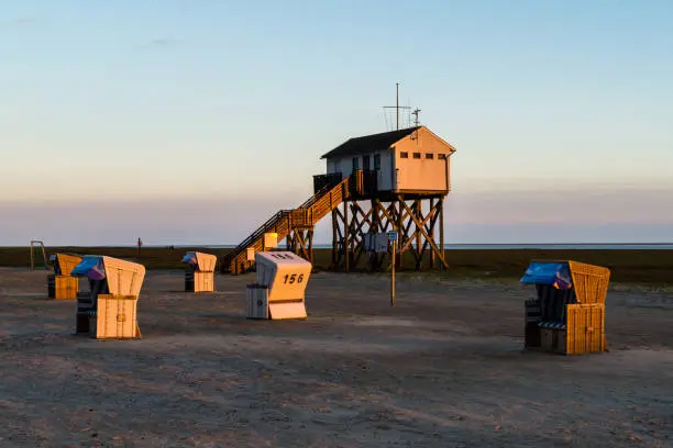
<path fill-rule="evenodd" d="M 145 245 L 143 247 L 166 247 L 159 245 Z M 236 247 L 235 245 L 174 245 L 173 247 L 203 247 L 203 248 L 212 248 L 212 249 L 233 249 Z M 283 244 L 280 244 L 283 247 Z M 315 244 L 313 248 L 316 249 L 330 249 L 332 248 L 331 244 Z M 632 249 L 632 250 L 643 250 L 643 249 L 664 249 L 664 250 L 673 250 L 673 243 L 622 243 L 622 244 L 602 244 L 602 243 L 586 243 L 586 244 L 567 244 L 567 243 L 556 243 L 556 244 L 446 244 L 444 245 L 445 249 Z"/>

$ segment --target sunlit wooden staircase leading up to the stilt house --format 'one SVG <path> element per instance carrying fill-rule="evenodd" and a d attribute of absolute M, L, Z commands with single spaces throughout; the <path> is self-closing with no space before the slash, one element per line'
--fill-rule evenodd
<path fill-rule="evenodd" d="M 353 186 L 362 184 L 362 181 L 357 181 L 361 178 L 362 171 L 356 171 L 338 183 L 326 184 L 297 209 L 280 210 L 274 214 L 236 248 L 222 257 L 220 260 L 222 273 L 238 275 L 250 269 L 252 262 L 247 261 L 247 249 L 253 248 L 255 253 L 264 251 L 265 233 L 275 232 L 278 234 L 278 240 L 282 240 L 295 229 L 312 228 L 350 197 Z"/>

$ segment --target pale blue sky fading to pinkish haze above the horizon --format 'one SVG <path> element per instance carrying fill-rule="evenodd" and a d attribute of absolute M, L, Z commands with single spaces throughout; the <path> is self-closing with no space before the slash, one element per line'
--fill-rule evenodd
<path fill-rule="evenodd" d="M 0 245 L 238 244 L 396 82 L 446 243 L 673 243 L 671 1 L 5 3 Z"/>

